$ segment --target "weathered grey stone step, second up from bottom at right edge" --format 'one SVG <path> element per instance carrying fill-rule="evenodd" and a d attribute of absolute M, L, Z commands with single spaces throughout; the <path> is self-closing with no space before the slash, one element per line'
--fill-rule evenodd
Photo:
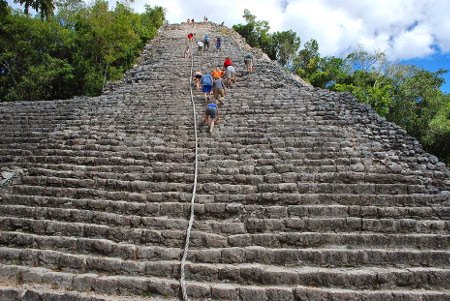
<path fill-rule="evenodd" d="M 5 252 L 3 252 L 5 251 Z M 4 265 L 25 264 L 64 273 L 101 274 L 123 277 L 157 277 L 173 281 L 179 278 L 179 261 L 122 261 L 106 257 L 72 256 L 43 250 L 0 249 Z M 250 285 L 295 286 L 345 289 L 449 289 L 449 269 L 402 268 L 322 268 L 281 267 L 263 264 L 207 264 L 187 263 L 186 279 L 209 282 L 227 282 Z"/>

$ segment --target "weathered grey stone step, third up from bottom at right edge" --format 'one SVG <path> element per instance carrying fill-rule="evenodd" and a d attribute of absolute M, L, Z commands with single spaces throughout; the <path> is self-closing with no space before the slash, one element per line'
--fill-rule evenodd
<path fill-rule="evenodd" d="M 20 232 L 3 232 L 0 234 L 0 246 L 3 246 L 4 258 L 14 255 L 14 248 L 63 252 L 66 255 L 106 256 L 121 260 L 137 261 L 179 261 L 182 256 L 180 248 L 162 248 L 157 246 L 138 246 L 114 243 L 104 239 L 86 239 L 65 236 L 41 236 Z M 6 248 L 8 247 L 8 248 Z M 13 252 L 13 255 L 7 253 Z M 28 258 L 28 257 L 27 257 Z M 316 248 L 262 248 L 234 247 L 190 249 L 188 260 L 194 263 L 261 263 L 279 266 L 302 265 L 319 267 L 358 267 L 358 266 L 393 266 L 393 267 L 449 267 L 450 253 L 446 250 L 417 249 L 345 249 Z"/>

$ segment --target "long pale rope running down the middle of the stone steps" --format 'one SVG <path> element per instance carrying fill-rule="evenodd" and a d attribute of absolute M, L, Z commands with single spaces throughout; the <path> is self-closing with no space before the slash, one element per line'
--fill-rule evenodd
<path fill-rule="evenodd" d="M 191 72 L 189 76 L 189 87 L 190 87 L 190 93 L 191 93 L 191 102 L 192 102 L 192 109 L 193 109 L 193 115 L 194 115 L 194 136 L 195 136 L 195 171 L 194 171 L 194 188 L 192 190 L 192 199 L 191 199 L 191 217 L 189 218 L 189 224 L 186 229 L 186 241 L 184 243 L 184 251 L 183 251 L 183 257 L 181 258 L 181 264 L 180 264 L 180 286 L 181 286 L 181 293 L 183 295 L 183 301 L 188 301 L 188 296 L 186 292 L 186 282 L 185 282 L 185 274 L 184 274 L 184 268 L 186 266 L 186 258 L 187 253 L 189 250 L 189 240 L 191 238 L 191 230 L 192 225 L 194 224 L 194 203 L 195 203 L 195 197 L 197 193 L 197 176 L 198 176 L 198 138 L 197 138 L 197 113 L 195 112 L 195 102 L 194 102 L 194 94 L 192 92 L 192 72 L 194 70 L 194 45 L 191 43 Z"/>

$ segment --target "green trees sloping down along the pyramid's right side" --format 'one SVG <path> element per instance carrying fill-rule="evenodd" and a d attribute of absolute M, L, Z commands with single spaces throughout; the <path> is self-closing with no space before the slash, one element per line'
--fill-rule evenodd
<path fill-rule="evenodd" d="M 322 57 L 315 39 L 300 49 L 295 32 L 270 33 L 269 23 L 256 20 L 248 10 L 244 19 L 247 24 L 233 29 L 251 46 L 315 87 L 351 92 L 450 165 L 450 94 L 440 89 L 447 70 L 430 72 L 395 64 L 384 52 L 370 53 L 361 46 L 344 58 Z"/>

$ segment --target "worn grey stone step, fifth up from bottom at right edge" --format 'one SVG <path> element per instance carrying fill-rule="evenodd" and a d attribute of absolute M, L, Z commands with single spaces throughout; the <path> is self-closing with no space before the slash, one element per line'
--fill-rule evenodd
<path fill-rule="evenodd" d="M 187 228 L 186 218 L 175 219 L 170 216 L 143 217 L 104 213 L 91 210 L 36 208 L 18 205 L 0 206 L 3 217 L 17 217 L 35 220 L 65 221 L 67 223 L 107 225 L 110 227 L 146 228 L 156 230 L 182 230 Z M 187 217 L 187 215 L 186 215 Z M 234 235 L 243 233 L 271 232 L 353 232 L 368 231 L 375 233 L 436 233 L 445 234 L 449 231 L 450 222 L 443 220 L 415 220 L 405 218 L 255 218 L 251 215 L 245 220 L 219 219 L 197 220 L 194 229 Z"/>

